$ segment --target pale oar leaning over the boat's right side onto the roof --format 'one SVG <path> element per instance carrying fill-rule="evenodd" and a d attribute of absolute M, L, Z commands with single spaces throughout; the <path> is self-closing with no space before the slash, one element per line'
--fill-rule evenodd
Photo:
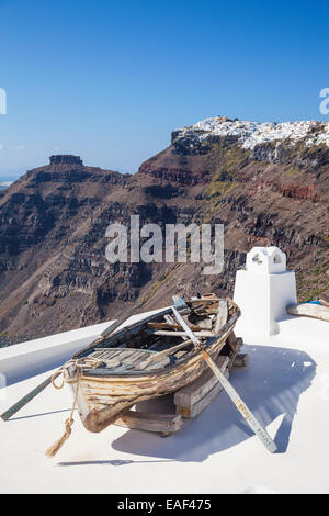
<path fill-rule="evenodd" d="M 271 451 L 271 453 L 274 453 L 277 450 L 277 447 L 275 442 L 271 439 L 266 430 L 261 426 L 259 420 L 256 418 L 256 416 L 252 414 L 250 408 L 246 405 L 246 403 L 241 400 L 235 388 L 231 385 L 231 383 L 225 378 L 220 369 L 216 366 L 209 354 L 203 348 L 201 341 L 198 338 L 194 335 L 192 329 L 188 326 L 183 317 L 180 315 L 180 313 L 177 311 L 174 306 L 172 306 L 172 311 L 175 315 L 177 321 L 180 323 L 182 328 L 186 332 L 186 335 L 191 338 L 193 341 L 195 349 L 200 351 L 204 358 L 204 360 L 207 362 L 209 368 L 213 370 L 214 374 L 218 379 L 218 381 L 222 383 L 223 388 L 238 408 L 238 411 L 242 414 L 243 418 L 254 431 L 254 434 L 259 437 L 261 442 L 265 446 L 265 448 Z"/>

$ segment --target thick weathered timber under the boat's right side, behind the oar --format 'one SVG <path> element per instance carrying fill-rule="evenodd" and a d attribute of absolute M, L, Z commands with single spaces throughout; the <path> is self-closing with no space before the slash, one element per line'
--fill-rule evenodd
<path fill-rule="evenodd" d="M 220 355 L 216 360 L 217 366 L 223 372 L 227 369 L 229 357 Z M 178 407 L 192 407 L 200 400 L 208 394 L 209 391 L 218 383 L 217 378 L 211 370 L 206 370 L 197 380 L 185 385 L 174 393 L 173 402 Z"/>

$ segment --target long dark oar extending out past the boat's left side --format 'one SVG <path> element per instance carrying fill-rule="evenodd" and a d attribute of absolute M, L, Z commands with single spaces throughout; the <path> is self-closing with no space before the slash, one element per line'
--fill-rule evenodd
<path fill-rule="evenodd" d="M 92 348 L 98 341 L 102 341 L 105 337 L 107 337 L 110 334 L 112 334 L 118 326 L 124 324 L 132 315 L 134 315 L 135 310 L 140 309 L 143 305 L 143 302 L 137 303 L 128 313 L 128 315 L 124 315 L 123 317 L 118 318 L 117 321 L 114 321 L 113 323 L 107 326 L 107 328 L 104 329 L 104 332 L 101 333 L 101 335 L 93 340 L 92 344 L 88 346 L 88 348 Z M 79 351 L 81 352 L 81 351 Z M 14 405 L 12 405 L 8 411 L 5 411 L 3 414 L 1 414 L 1 418 L 3 420 L 10 419 L 11 416 L 13 416 L 16 412 L 19 412 L 23 406 L 27 405 L 31 400 L 33 400 L 35 396 L 37 396 L 41 392 L 43 392 L 46 386 L 48 386 L 52 383 L 53 377 L 56 378 L 58 374 L 60 374 L 61 368 L 58 369 L 55 373 L 53 373 L 50 377 L 48 377 L 46 380 L 44 380 L 39 385 L 37 385 L 35 389 L 33 389 L 31 392 L 25 394 L 25 396 L 21 397 Z"/>

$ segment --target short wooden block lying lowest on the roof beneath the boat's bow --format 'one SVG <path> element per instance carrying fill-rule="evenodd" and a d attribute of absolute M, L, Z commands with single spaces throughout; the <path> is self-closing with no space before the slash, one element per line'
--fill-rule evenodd
<path fill-rule="evenodd" d="M 166 435 L 179 431 L 182 424 L 183 419 L 179 414 L 150 414 L 141 411 L 125 411 L 114 422 L 116 426 Z"/>

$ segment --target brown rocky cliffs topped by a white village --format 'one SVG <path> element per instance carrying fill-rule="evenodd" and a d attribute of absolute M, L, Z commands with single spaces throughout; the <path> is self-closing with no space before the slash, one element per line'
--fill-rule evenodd
<path fill-rule="evenodd" d="M 231 294 L 256 245 L 277 245 L 299 299 L 329 294 L 329 124 L 206 119 L 172 132 L 134 175 L 52 156 L 0 195 L 2 345 L 94 324 L 143 300 Z M 110 263 L 110 223 L 223 223 L 225 267 Z"/>

